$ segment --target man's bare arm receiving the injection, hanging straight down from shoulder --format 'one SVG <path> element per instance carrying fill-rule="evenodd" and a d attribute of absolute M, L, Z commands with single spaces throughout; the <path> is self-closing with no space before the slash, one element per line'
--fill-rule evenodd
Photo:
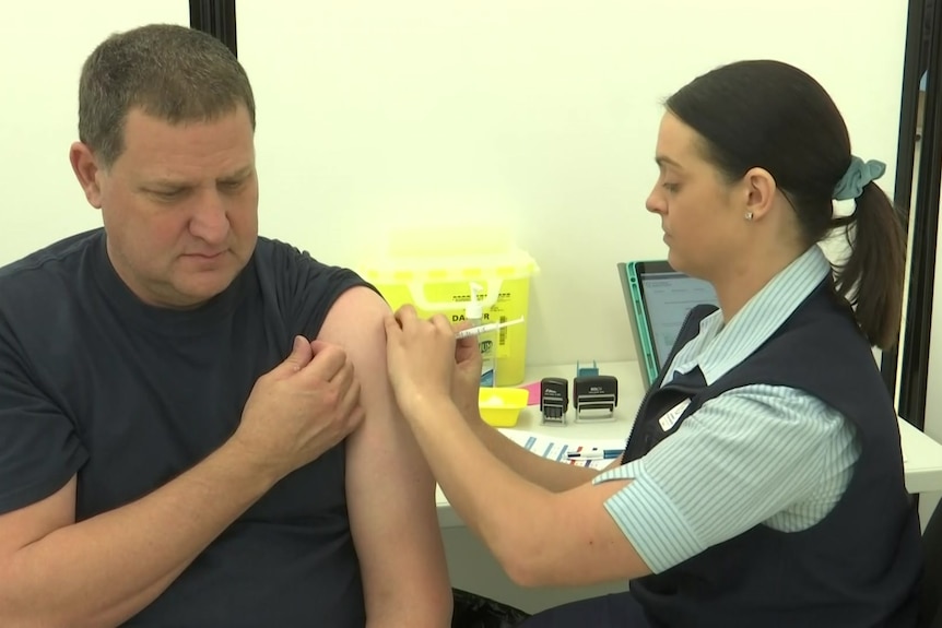
<path fill-rule="evenodd" d="M 351 528 L 368 616 L 441 626 L 450 616 L 451 589 L 435 482 L 389 384 L 382 320 L 387 313 L 388 306 L 376 293 L 352 288 L 335 301 L 319 335 L 346 348 L 366 411 L 363 425 L 346 442 Z"/>

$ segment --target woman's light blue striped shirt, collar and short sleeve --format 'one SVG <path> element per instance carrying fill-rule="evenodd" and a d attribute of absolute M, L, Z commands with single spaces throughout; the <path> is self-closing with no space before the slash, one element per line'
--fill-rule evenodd
<path fill-rule="evenodd" d="M 831 272 L 817 246 L 778 273 L 723 325 L 705 318 L 674 372 L 711 384 L 758 348 Z M 815 396 L 781 386 L 725 392 L 647 455 L 594 478 L 633 478 L 605 509 L 655 573 L 758 524 L 797 532 L 821 521 L 853 473 L 853 425 Z"/>

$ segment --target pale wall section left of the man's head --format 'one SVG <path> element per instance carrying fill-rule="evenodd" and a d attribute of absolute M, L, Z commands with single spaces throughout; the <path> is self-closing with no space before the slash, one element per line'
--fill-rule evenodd
<path fill-rule="evenodd" d="M 69 166 L 79 135 L 79 73 L 105 37 L 149 22 L 189 25 L 189 3 L 0 4 L 0 264 L 101 226 Z"/>

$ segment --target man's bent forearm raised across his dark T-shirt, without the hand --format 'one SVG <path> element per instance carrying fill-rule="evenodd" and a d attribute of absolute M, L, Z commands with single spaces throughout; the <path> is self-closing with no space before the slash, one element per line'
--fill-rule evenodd
<path fill-rule="evenodd" d="M 0 572 L 0 625 L 117 626 L 139 613 L 276 482 L 237 447 L 14 554 Z"/>

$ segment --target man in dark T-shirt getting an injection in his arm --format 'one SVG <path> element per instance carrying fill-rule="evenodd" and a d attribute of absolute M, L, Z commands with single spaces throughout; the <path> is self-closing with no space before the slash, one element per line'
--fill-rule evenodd
<path fill-rule="evenodd" d="M 85 62 L 104 229 L 0 270 L 0 625 L 449 625 L 388 308 L 257 235 L 228 49 L 152 25 Z"/>

